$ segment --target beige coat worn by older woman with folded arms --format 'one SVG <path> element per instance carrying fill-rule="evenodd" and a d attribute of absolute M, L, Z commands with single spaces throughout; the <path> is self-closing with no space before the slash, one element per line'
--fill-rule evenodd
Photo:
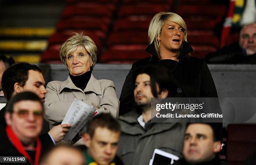
<path fill-rule="evenodd" d="M 60 124 L 75 98 L 99 108 L 99 113 L 110 113 L 114 117 L 118 117 L 119 100 L 113 81 L 97 80 L 91 75 L 87 86 L 82 91 L 68 77 L 63 82 L 49 82 L 46 90 L 44 118 L 50 123 L 50 127 Z"/>

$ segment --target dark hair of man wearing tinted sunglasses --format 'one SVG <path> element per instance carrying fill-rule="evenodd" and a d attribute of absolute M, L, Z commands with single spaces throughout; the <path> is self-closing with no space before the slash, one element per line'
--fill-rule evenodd
<path fill-rule="evenodd" d="M 13 112 L 13 107 L 14 105 L 19 102 L 19 101 L 25 101 L 25 100 L 31 100 L 31 101 L 38 101 L 40 102 L 42 109 L 44 110 L 44 105 L 41 102 L 40 98 L 33 92 L 21 92 L 18 93 L 17 95 L 13 96 L 11 100 L 7 102 L 6 105 L 6 112 Z"/>

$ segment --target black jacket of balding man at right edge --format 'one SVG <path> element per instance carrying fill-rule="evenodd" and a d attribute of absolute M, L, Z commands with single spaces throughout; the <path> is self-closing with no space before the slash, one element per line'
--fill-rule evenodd
<path fill-rule="evenodd" d="M 222 64 L 256 64 L 256 53 L 246 55 L 238 42 L 225 46 L 216 52 L 209 53 L 205 57 L 207 63 L 222 63 Z"/>

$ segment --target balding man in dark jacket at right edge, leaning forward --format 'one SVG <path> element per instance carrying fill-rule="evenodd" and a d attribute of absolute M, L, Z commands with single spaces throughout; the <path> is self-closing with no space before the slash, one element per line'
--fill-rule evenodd
<path fill-rule="evenodd" d="M 239 42 L 209 53 L 207 63 L 256 63 L 256 23 L 245 25 L 240 32 Z"/>

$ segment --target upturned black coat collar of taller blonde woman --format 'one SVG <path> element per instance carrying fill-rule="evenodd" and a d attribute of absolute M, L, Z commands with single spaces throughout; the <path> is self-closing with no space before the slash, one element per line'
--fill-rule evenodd
<path fill-rule="evenodd" d="M 193 48 L 191 47 L 191 45 L 189 45 L 187 43 L 187 41 L 183 41 L 183 44 L 182 44 L 182 47 L 181 47 L 181 50 L 180 50 L 179 58 L 186 57 L 186 55 L 188 53 L 192 52 L 192 51 L 193 51 Z M 159 60 L 159 57 L 158 57 L 156 49 L 155 49 L 154 42 L 152 42 L 150 45 L 148 45 L 148 47 L 146 48 L 146 52 L 148 52 L 152 55 L 151 60 L 152 59 Z"/>

